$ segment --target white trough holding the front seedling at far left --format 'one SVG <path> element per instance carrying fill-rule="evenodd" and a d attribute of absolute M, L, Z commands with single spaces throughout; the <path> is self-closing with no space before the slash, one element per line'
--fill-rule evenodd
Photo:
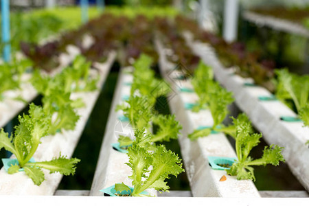
<path fill-rule="evenodd" d="M 96 63 L 98 67 L 100 80 L 98 82 L 98 90 L 93 92 L 72 93 L 71 98 L 82 98 L 85 103 L 84 108 L 78 108 L 77 112 L 80 119 L 76 124 L 75 130 L 62 130 L 62 133 L 57 133 L 54 136 L 47 136 L 41 139 L 41 144 L 38 146 L 34 159 L 36 161 L 48 161 L 53 157 L 58 157 L 61 152 L 62 155 L 71 157 L 73 151 L 78 144 L 78 140 L 82 135 L 87 119 L 91 114 L 93 106 L 100 94 L 100 88 L 106 80 L 106 76 L 111 69 L 111 65 L 115 59 L 115 52 L 111 52 L 104 64 Z M 11 157 L 12 158 L 12 157 Z M 77 165 L 78 166 L 78 165 Z M 62 179 L 59 173 L 49 174 L 44 170 L 45 181 L 40 185 L 34 185 L 32 180 L 25 175 L 25 172 L 18 172 L 16 174 L 8 174 L 4 168 L 0 170 L 0 194 L 13 195 L 54 195 L 58 184 Z"/>

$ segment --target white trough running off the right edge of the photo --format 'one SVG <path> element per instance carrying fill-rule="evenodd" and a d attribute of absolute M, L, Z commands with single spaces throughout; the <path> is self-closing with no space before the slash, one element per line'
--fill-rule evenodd
<path fill-rule="evenodd" d="M 245 82 L 253 82 L 238 75 L 231 76 L 231 70 L 219 62 L 214 49 L 205 43 L 193 42 L 189 33 L 185 34 L 187 45 L 201 57 L 205 64 L 214 69 L 216 80 L 234 93 L 236 104 L 247 113 L 253 125 L 263 134 L 268 144 L 284 147 L 282 155 L 299 182 L 309 191 L 309 128 L 302 122 L 283 122 L 282 116 L 297 115 L 280 101 L 262 102 L 259 96 L 270 96 L 263 87 L 244 87 Z"/>

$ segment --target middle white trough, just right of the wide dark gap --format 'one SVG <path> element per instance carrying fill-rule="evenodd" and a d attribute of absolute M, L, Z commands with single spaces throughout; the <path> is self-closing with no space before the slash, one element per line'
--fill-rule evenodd
<path fill-rule="evenodd" d="M 100 190 L 110 187 L 115 183 L 125 183 L 132 186 L 132 180 L 128 178 L 132 174 L 131 168 L 125 163 L 128 162 L 126 153 L 118 152 L 113 149 L 111 144 L 117 143 L 119 135 L 134 135 L 133 129 L 128 122 L 120 122 L 118 117 L 123 115 L 122 111 L 115 111 L 118 104 L 125 102 L 124 96 L 130 96 L 130 85 L 133 82 L 133 75 L 128 73 L 133 68 L 126 67 L 121 69 L 117 80 L 111 111 L 108 115 L 108 122 L 104 139 L 102 142 L 100 155 L 95 169 L 93 183 L 91 185 L 90 196 L 103 196 Z M 157 196 L 153 189 L 147 190 L 152 196 Z"/>

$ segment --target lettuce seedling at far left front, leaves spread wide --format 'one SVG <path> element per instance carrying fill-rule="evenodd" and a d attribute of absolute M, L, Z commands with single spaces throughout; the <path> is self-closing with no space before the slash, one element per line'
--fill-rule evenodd
<path fill-rule="evenodd" d="M 9 174 L 14 174 L 23 168 L 34 184 L 41 185 L 45 180 L 41 168 L 49 170 L 50 173 L 60 172 L 64 175 L 75 173 L 75 165 L 80 160 L 67 159 L 61 154 L 52 161 L 29 162 L 38 144 L 41 143 L 40 139 L 48 133 L 50 119 L 51 116 L 44 113 L 43 108 L 30 104 L 29 115 L 19 116 L 19 125 L 15 127 L 14 135 L 8 137 L 8 133 L 5 133 L 3 129 L 0 131 L 0 150 L 5 148 L 12 152 L 19 162 L 18 165 L 11 165 L 8 170 Z"/>

